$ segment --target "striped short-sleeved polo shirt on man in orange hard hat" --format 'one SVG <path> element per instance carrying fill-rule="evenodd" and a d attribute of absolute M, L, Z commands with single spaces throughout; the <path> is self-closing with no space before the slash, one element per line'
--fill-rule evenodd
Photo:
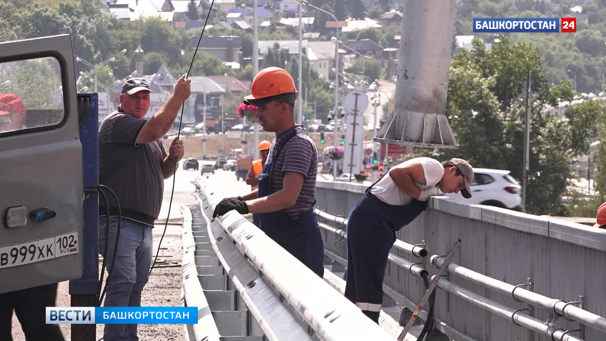
<path fill-rule="evenodd" d="M 285 139 L 288 132 L 296 129 L 294 126 L 285 132 L 277 135 L 271 143 L 267 163 L 271 162 L 275 157 L 277 150 L 276 145 Z M 297 172 L 305 176 L 299 197 L 293 206 L 285 208 L 283 211 L 291 217 L 295 217 L 300 212 L 310 211 L 316 198 L 316 173 L 318 172 L 318 150 L 313 140 L 307 133 L 299 133 L 284 146 L 284 149 L 278 155 L 278 159 L 271 172 L 271 193 L 278 192 L 282 189 L 284 182 L 284 172 Z"/>

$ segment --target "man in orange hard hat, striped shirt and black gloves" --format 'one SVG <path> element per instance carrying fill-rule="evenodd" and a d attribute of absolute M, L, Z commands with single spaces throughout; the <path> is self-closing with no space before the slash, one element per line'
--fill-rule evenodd
<path fill-rule="evenodd" d="M 297 89 L 279 67 L 261 70 L 245 104 L 266 132 L 275 132 L 267 161 L 257 175 L 259 188 L 242 197 L 225 198 L 213 218 L 236 210 L 259 214 L 259 228 L 320 277 L 324 274 L 324 244 L 313 214 L 316 203 L 318 150 L 302 126 L 295 124 Z"/>

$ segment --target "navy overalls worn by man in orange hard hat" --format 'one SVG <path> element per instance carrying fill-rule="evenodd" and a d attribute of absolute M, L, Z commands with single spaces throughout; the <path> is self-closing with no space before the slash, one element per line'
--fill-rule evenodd
<path fill-rule="evenodd" d="M 276 160 L 288 141 L 299 133 L 304 133 L 304 130 L 297 127 L 287 133 L 282 143 L 276 143 L 273 146 L 275 152 L 271 161 L 267 160 L 263 171 L 257 175 L 259 179 L 258 198 L 271 194 L 271 172 Z M 311 271 L 320 277 L 324 275 L 324 243 L 313 211 L 301 212 L 296 217 L 291 217 L 284 211 L 261 213 L 259 214 L 259 228 Z"/>

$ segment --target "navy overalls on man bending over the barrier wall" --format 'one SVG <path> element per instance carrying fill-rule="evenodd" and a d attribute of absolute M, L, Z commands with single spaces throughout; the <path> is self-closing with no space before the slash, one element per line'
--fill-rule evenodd
<path fill-rule="evenodd" d="M 366 189 L 349 215 L 345 285 L 345 297 L 376 323 L 383 302 L 387 256 L 396 241 L 396 231 L 415 220 L 426 207 L 424 201 L 415 198 L 404 206 L 384 203 L 370 193 L 379 180 Z"/>

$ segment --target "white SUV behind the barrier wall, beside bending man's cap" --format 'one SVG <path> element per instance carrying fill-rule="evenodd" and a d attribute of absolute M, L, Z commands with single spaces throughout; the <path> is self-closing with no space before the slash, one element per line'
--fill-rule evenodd
<path fill-rule="evenodd" d="M 509 175 L 509 170 L 474 168 L 473 174 L 471 198 L 465 199 L 460 193 L 442 195 L 462 203 L 483 204 L 521 211 L 522 186 L 518 180 Z"/>

